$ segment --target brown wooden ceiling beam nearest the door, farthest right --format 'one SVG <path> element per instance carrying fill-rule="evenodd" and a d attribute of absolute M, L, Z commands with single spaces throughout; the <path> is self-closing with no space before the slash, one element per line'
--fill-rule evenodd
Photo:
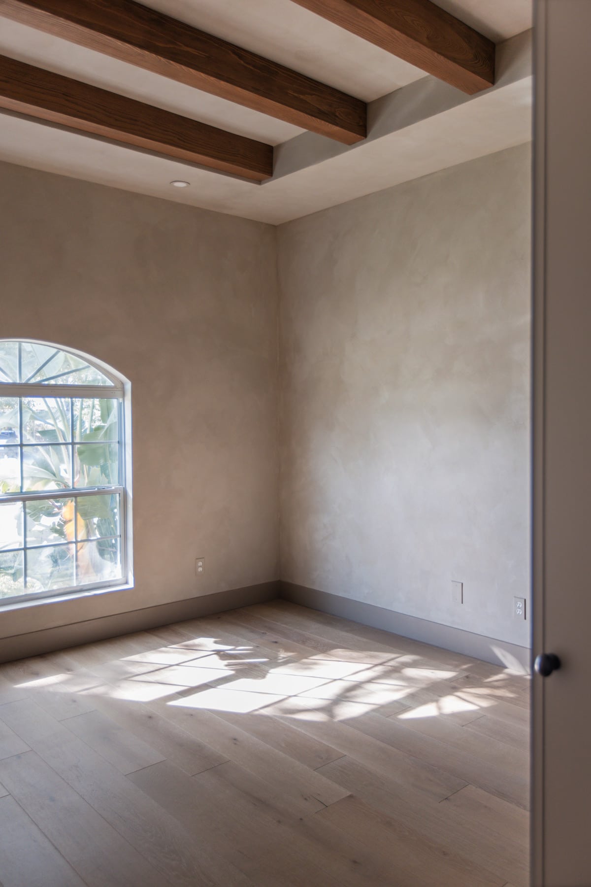
<path fill-rule="evenodd" d="M 472 95 L 494 83 L 494 43 L 431 0 L 294 0 Z"/>

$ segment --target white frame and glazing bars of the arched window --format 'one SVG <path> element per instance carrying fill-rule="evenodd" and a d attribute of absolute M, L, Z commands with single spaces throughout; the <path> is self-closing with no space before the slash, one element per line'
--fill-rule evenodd
<path fill-rule="evenodd" d="M 57 351 L 64 351 L 67 354 L 71 354 L 73 357 L 81 358 L 86 361 L 89 366 L 97 369 L 99 373 L 102 373 L 109 381 L 113 383 L 113 385 L 70 385 L 70 384 L 59 384 L 59 383 L 51 383 L 51 381 L 40 383 L 35 382 L 34 384 L 28 382 L 2 382 L 0 383 L 0 397 L 46 397 L 50 399 L 58 398 L 96 398 L 97 400 L 117 400 L 118 401 L 118 429 L 119 429 L 119 441 L 118 441 L 118 457 L 119 457 L 119 483 L 117 485 L 106 485 L 106 486 L 97 486 L 97 487 L 85 487 L 83 489 L 78 488 L 70 488 L 64 490 L 51 490 L 51 491 L 30 491 L 30 492 L 12 492 L 12 493 L 0 493 L 0 503 L 4 504 L 5 502 L 27 502 L 27 501 L 39 501 L 42 499 L 77 499 L 87 496 L 100 496 L 105 495 L 106 492 L 119 494 L 119 502 L 120 502 L 120 556 L 121 556 L 121 577 L 116 579 L 107 580 L 105 582 L 96 582 L 96 583 L 88 583 L 84 585 L 71 585 L 68 587 L 60 587 L 60 588 L 51 588 L 47 590 L 43 590 L 41 592 L 31 592 L 31 593 L 23 593 L 23 594 L 15 594 L 10 597 L 0 598 L 0 609 L 10 607 L 12 604 L 20 604 L 27 601 L 35 601 L 35 600 L 44 600 L 46 598 L 60 598 L 62 596 L 71 596 L 76 594 L 91 594 L 97 593 L 100 591 L 108 591 L 121 587 L 129 587 L 132 584 L 132 572 L 131 572 L 131 540 L 130 540 L 130 471 L 128 471 L 128 467 L 130 467 L 130 441 L 128 435 L 128 428 L 130 428 L 130 410 L 129 410 L 129 391 L 130 386 L 129 383 L 124 381 L 122 378 L 118 378 L 112 370 L 106 367 L 102 362 L 98 361 L 95 357 L 90 357 L 87 354 L 82 353 L 81 351 L 75 351 L 74 349 L 65 348 L 61 345 L 56 345 L 53 342 L 47 341 L 35 341 L 30 339 L 2 339 L 1 341 L 17 341 L 17 342 L 31 342 L 32 344 L 43 345 L 48 348 L 54 348 Z M 38 371 L 37 371 L 38 372 Z M 68 371 L 68 375 L 72 374 L 72 371 Z M 64 373 L 66 375 L 66 373 Z M 23 428 L 22 428 L 22 412 L 19 409 L 19 443 L 12 444 L 14 449 L 19 450 L 19 459 L 20 459 L 20 477 L 22 481 L 23 475 L 23 453 L 24 449 L 27 446 L 26 443 L 23 443 Z M 73 432 L 74 433 L 74 432 Z M 35 445 L 35 444 L 31 444 Z M 74 448 L 74 438 L 69 444 L 66 446 L 70 446 Z M 72 483 L 74 483 L 74 477 L 72 478 Z M 106 537 L 105 537 L 106 538 Z M 111 537 L 109 537 L 111 538 Z M 114 538 L 114 537 L 113 537 Z M 57 543 L 56 545 L 67 545 L 69 543 Z M 1 549 L 4 553 L 9 553 L 12 551 L 23 551 L 23 567 L 24 567 L 24 575 L 26 577 L 26 569 L 27 569 L 27 531 L 26 527 L 23 528 L 23 546 L 22 549 L 20 546 L 15 548 Z M 75 561 L 74 561 L 75 563 Z M 75 569 L 75 566 L 74 566 Z"/>

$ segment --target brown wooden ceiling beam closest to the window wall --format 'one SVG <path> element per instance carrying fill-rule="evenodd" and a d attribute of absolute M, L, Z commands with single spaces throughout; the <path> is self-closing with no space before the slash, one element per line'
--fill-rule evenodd
<path fill-rule="evenodd" d="M 0 108 L 262 181 L 273 147 L 0 56 Z"/>

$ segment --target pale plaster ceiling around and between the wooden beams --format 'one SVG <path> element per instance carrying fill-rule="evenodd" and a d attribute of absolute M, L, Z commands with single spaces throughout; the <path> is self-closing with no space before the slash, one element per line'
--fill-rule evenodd
<path fill-rule="evenodd" d="M 438 3 L 497 43 L 521 34 L 532 23 L 531 0 Z M 531 82 L 525 58 L 529 48 L 523 40 L 506 44 L 502 58 L 507 57 L 506 67 L 510 63 L 515 68 L 505 77 L 507 82 L 469 99 L 292 0 L 144 0 L 144 4 L 374 102 L 369 111 L 376 125 L 369 139 L 346 148 L 266 114 L 0 19 L 1 54 L 282 145 L 283 171 L 263 185 L 245 183 L 14 114 L 0 116 L 0 160 L 279 224 L 530 137 Z M 522 56 L 518 64 L 511 56 L 517 51 Z M 422 104 L 417 104 L 417 95 Z M 380 98 L 384 96 L 388 98 Z M 380 130 L 384 109 L 392 107 L 391 116 L 404 118 L 406 103 L 410 125 L 400 126 L 394 120 L 389 123 L 391 131 L 383 125 Z M 190 181 L 191 188 L 171 188 L 173 178 Z"/>

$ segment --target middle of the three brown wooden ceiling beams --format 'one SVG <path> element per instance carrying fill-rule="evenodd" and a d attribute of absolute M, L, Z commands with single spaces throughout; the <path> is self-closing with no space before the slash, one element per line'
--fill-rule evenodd
<path fill-rule="evenodd" d="M 133 0 L 0 0 L 0 15 L 353 145 L 359 98 Z"/>

